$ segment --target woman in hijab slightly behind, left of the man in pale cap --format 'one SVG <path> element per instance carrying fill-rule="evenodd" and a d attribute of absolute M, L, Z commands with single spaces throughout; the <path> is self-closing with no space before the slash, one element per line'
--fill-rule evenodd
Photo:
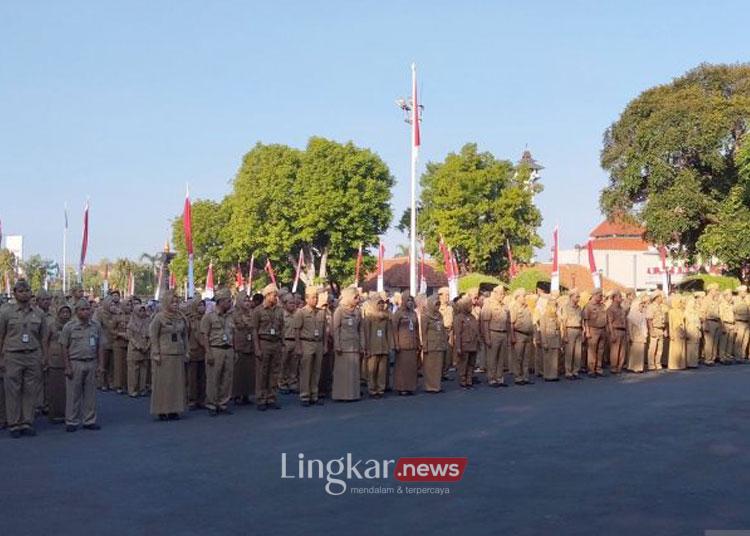
<path fill-rule="evenodd" d="M 255 370 L 255 348 L 253 347 L 252 299 L 247 292 L 237 293 L 232 309 L 234 322 L 234 371 L 232 372 L 232 398 L 234 403 L 250 403 L 250 393 L 255 390 L 253 371 Z"/>

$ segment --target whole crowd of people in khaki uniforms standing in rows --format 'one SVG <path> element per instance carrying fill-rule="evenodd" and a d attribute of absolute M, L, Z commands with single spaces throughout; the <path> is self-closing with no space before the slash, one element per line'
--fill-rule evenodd
<path fill-rule="evenodd" d="M 450 300 L 447 288 L 335 297 L 308 287 L 302 297 L 268 285 L 210 301 L 167 291 L 155 304 L 117 290 L 88 300 L 80 287 L 34 296 L 21 279 L 0 308 L 0 425 L 33 436 L 44 413 L 68 432 L 98 430 L 97 389 L 150 396 L 151 414 L 169 421 L 199 408 L 231 414 L 231 404 L 280 409 L 279 393 L 306 407 L 412 395 L 420 384 L 440 393 L 454 371 L 469 390 L 747 363 L 749 323 L 744 286 L 666 298 L 499 285 Z"/>

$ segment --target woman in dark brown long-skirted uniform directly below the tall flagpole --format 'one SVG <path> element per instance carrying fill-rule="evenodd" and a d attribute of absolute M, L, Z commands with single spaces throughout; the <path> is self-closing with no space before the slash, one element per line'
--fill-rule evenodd
<path fill-rule="evenodd" d="M 393 388 L 399 395 L 413 395 L 417 390 L 419 368 L 419 321 L 414 298 L 401 294 L 401 307 L 393 314 L 396 364 L 393 369 Z"/>

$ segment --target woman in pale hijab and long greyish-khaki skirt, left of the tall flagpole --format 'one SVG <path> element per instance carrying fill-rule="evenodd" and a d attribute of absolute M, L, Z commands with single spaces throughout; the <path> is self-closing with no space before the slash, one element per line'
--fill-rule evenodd
<path fill-rule="evenodd" d="M 364 351 L 362 315 L 357 307 L 357 290 L 341 291 L 341 299 L 333 313 L 333 400 L 359 400 L 360 356 Z"/>

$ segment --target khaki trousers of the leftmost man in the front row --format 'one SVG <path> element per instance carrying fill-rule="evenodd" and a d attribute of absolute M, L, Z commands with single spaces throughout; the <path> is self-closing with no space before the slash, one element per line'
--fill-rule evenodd
<path fill-rule="evenodd" d="M 31 427 L 41 380 L 40 351 L 5 352 L 5 412 L 10 430 Z"/>

